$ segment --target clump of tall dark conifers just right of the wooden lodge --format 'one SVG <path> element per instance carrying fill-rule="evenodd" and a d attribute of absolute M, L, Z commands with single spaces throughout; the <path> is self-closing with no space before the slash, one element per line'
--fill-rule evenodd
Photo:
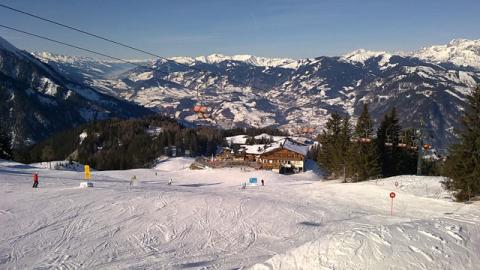
<path fill-rule="evenodd" d="M 355 126 L 348 116 L 331 115 L 318 136 L 317 162 L 331 177 L 349 181 L 415 174 L 418 153 L 414 135 L 412 129 L 402 130 L 395 108 L 375 132 L 365 104 Z"/>

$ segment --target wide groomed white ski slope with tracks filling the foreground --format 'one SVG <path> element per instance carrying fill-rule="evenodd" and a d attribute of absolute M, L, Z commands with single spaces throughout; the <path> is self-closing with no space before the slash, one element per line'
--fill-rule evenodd
<path fill-rule="evenodd" d="M 441 178 L 342 184 L 313 172 L 192 171 L 187 163 L 93 171 L 95 187 L 82 189 L 81 172 L 0 161 L 0 269 L 480 265 L 480 206 L 451 202 Z M 35 171 L 38 190 L 31 187 Z M 242 190 L 249 177 L 266 185 Z"/>

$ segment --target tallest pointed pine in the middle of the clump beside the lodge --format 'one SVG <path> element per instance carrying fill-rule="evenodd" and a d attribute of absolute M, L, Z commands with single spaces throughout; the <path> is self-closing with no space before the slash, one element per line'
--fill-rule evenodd
<path fill-rule="evenodd" d="M 363 181 L 378 177 L 381 173 L 378 164 L 377 148 L 373 143 L 373 122 L 368 112 L 368 104 L 355 126 L 355 137 L 358 142 L 352 146 L 352 166 L 355 181 Z"/>

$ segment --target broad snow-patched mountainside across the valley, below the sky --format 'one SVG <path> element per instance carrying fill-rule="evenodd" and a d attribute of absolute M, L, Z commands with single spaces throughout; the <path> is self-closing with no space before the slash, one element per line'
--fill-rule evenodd
<path fill-rule="evenodd" d="M 291 133 L 303 127 L 319 132 L 333 111 L 355 119 L 369 103 L 378 123 L 396 107 L 404 127 L 423 125 L 427 139 L 444 148 L 454 140 L 465 95 L 480 83 L 478 57 L 480 41 L 470 40 L 401 55 L 357 50 L 302 60 L 176 57 L 177 62 L 158 60 L 150 68 L 84 82 L 182 121 L 224 128 L 273 125 Z M 209 118 L 193 112 L 199 103 L 211 108 Z"/>

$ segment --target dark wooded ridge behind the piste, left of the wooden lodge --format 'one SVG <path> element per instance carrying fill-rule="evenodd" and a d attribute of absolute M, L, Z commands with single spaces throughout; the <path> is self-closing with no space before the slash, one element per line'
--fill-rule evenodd
<path fill-rule="evenodd" d="M 222 142 L 218 129 L 184 128 L 168 118 L 112 119 L 57 134 L 22 156 L 24 162 L 70 159 L 97 170 L 122 170 L 148 167 L 162 155 L 209 156 Z"/>

